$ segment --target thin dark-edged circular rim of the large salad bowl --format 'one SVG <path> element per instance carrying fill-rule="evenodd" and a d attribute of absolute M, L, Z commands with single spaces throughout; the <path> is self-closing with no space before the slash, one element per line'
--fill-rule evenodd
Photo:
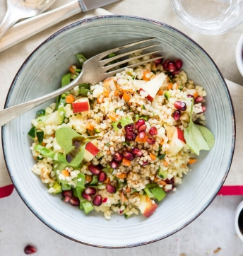
<path fill-rule="evenodd" d="M 215 194 L 212 194 L 212 197 L 211 197 L 211 199 L 208 200 L 208 203 L 206 204 L 206 206 L 204 206 L 204 208 L 201 209 L 201 211 L 199 211 L 198 214 L 196 214 L 190 221 L 187 221 L 186 223 L 184 223 L 182 226 L 180 226 L 176 230 L 174 230 L 174 231 L 172 231 L 170 233 L 167 233 L 166 235 L 162 235 L 161 237 L 158 237 L 158 238 L 156 238 L 154 240 L 146 241 L 146 242 L 143 242 L 143 243 L 135 243 L 135 244 L 129 244 L 129 245 L 114 245 L 114 246 L 113 245 L 97 245 L 97 244 L 93 244 L 93 243 L 85 243 L 85 242 L 83 242 L 81 240 L 76 240 L 74 238 L 69 237 L 68 235 L 65 235 L 64 233 L 61 233 L 61 231 L 57 230 L 52 225 L 47 223 L 44 219 L 42 219 L 42 217 L 37 212 L 35 212 L 34 209 L 32 209 L 32 206 L 30 206 L 28 204 L 28 200 L 25 199 L 25 197 L 22 197 L 20 190 L 18 190 L 18 185 L 15 184 L 15 182 L 14 182 L 12 176 L 11 176 L 10 167 L 8 166 L 8 162 L 6 161 L 6 148 L 5 148 L 5 145 L 4 145 L 4 129 L 5 129 L 5 126 L 2 127 L 2 129 L 1 129 L 1 139 L 2 139 L 1 144 L 2 144 L 2 148 L 3 148 L 4 161 L 6 163 L 6 168 L 8 170 L 8 174 L 9 174 L 9 176 L 11 178 L 11 181 L 13 182 L 14 187 L 16 188 L 16 191 L 18 192 L 20 198 L 23 200 L 25 205 L 28 206 L 30 211 L 32 211 L 32 213 L 35 214 L 35 216 L 37 216 L 37 218 L 40 219 L 40 221 L 42 221 L 42 223 L 45 223 L 46 226 L 48 226 L 49 228 L 52 228 L 53 231 L 59 233 L 60 235 L 63 235 L 65 238 L 69 238 L 70 240 L 73 240 L 73 241 L 78 242 L 78 243 L 82 243 L 84 245 L 90 245 L 90 246 L 97 247 L 97 248 L 113 248 L 113 249 L 115 249 L 115 248 L 133 248 L 133 247 L 137 247 L 137 246 L 141 246 L 141 245 L 147 245 L 147 244 L 150 244 L 150 243 L 154 243 L 154 242 L 156 242 L 158 240 L 162 240 L 164 238 L 167 238 L 168 236 L 173 235 L 174 233 L 177 233 L 182 228 L 184 228 L 185 226 L 189 225 L 189 223 L 194 221 L 198 216 L 200 216 L 203 213 L 203 211 L 205 211 L 208 208 L 208 206 L 211 204 L 211 202 L 213 202 L 213 199 L 215 199 L 215 197 L 217 196 L 220 188 L 223 186 L 223 183 L 225 182 L 225 179 L 227 178 L 227 175 L 228 175 L 229 170 L 230 170 L 230 166 L 232 164 L 232 158 L 233 158 L 234 151 L 235 151 L 235 136 L 236 136 L 235 110 L 234 110 L 234 106 L 233 106 L 233 103 L 232 103 L 232 98 L 230 96 L 229 89 L 227 88 L 227 84 L 225 82 L 225 79 L 223 78 L 223 75 L 220 72 L 220 69 L 218 69 L 218 66 L 215 64 L 215 62 L 210 57 L 210 55 L 205 50 L 203 50 L 203 47 L 198 45 L 188 35 L 185 35 L 180 30 L 177 30 L 176 28 L 174 28 L 174 27 L 172 27 L 170 25 L 167 25 L 166 23 L 162 23 L 160 21 L 155 21 L 155 20 L 150 19 L 150 18 L 143 18 L 143 17 L 138 17 L 138 16 L 126 16 L 126 15 L 105 15 L 105 16 L 95 16 L 95 17 L 91 17 L 91 18 L 85 18 L 85 19 L 83 19 L 81 21 L 76 21 L 75 23 L 71 23 L 69 25 L 66 25 L 64 28 L 61 28 L 56 33 L 54 33 L 51 36 L 49 36 L 44 42 L 42 42 L 38 47 L 36 47 L 35 50 L 32 51 L 32 53 L 25 59 L 23 64 L 20 66 L 20 69 L 18 69 L 18 71 L 16 73 L 16 76 L 13 78 L 11 86 L 10 86 L 10 88 L 8 90 L 8 94 L 6 96 L 6 101 L 5 101 L 5 104 L 4 104 L 4 108 L 6 108 L 6 106 L 8 105 L 8 100 L 11 97 L 11 91 L 14 88 L 14 84 L 18 80 L 18 76 L 23 71 L 23 69 L 25 69 L 25 64 L 28 63 L 28 61 L 37 52 L 37 50 L 39 50 L 43 45 L 45 45 L 47 42 L 52 40 L 54 37 L 57 37 L 59 34 L 64 33 L 66 30 L 74 28 L 74 27 L 76 27 L 78 25 L 83 25 L 85 23 L 90 23 L 90 22 L 97 21 L 97 20 L 104 19 L 104 18 L 105 19 L 118 18 L 118 19 L 128 19 L 128 20 L 129 19 L 133 19 L 135 21 L 143 21 L 143 22 L 146 22 L 146 23 L 153 23 L 155 25 L 163 26 L 165 28 L 169 28 L 170 30 L 174 30 L 175 32 L 179 33 L 180 35 L 183 35 L 184 37 L 186 37 L 187 40 L 189 40 L 191 43 L 196 45 L 196 47 L 198 47 L 204 54 L 206 54 L 208 59 L 210 59 L 211 62 L 213 63 L 213 65 L 215 66 L 215 69 L 218 71 L 218 74 L 219 74 L 220 78 L 222 79 L 223 86 L 225 88 L 225 93 L 227 94 L 227 98 L 228 98 L 229 103 L 230 103 L 230 111 L 231 111 L 231 115 L 232 115 L 232 146 L 231 146 L 230 161 L 228 162 L 227 170 L 226 170 L 226 173 L 225 173 L 225 175 L 223 177 L 223 180 L 222 180 L 222 182 L 220 182 L 220 185 L 218 186 L 218 191 L 216 191 Z"/>

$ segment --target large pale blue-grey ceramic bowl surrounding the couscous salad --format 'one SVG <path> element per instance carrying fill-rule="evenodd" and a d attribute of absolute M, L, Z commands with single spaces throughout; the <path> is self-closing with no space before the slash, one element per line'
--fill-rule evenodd
<path fill-rule="evenodd" d="M 157 37 L 166 58 L 184 61 L 184 70 L 206 97 L 208 129 L 215 136 L 211 151 L 202 151 L 192 171 L 184 176 L 177 192 L 167 194 L 155 213 L 124 219 L 114 214 L 106 221 L 102 214 L 83 211 L 48 194 L 47 187 L 31 169 L 35 163 L 27 132 L 37 110 L 45 103 L 2 129 L 6 165 L 16 190 L 30 210 L 61 235 L 87 245 L 127 248 L 166 238 L 199 216 L 212 202 L 230 169 L 235 146 L 235 117 L 226 83 L 208 54 L 189 37 L 157 21 L 131 16 L 99 16 L 73 23 L 49 37 L 20 67 L 6 98 L 5 107 L 23 103 L 59 88 L 61 76 L 76 63 L 74 54 L 86 57 L 119 45 Z M 54 100 L 53 100 L 54 101 Z"/>

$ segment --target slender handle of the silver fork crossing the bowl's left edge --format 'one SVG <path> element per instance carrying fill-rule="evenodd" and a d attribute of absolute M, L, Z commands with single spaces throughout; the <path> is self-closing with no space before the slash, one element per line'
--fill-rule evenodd
<path fill-rule="evenodd" d="M 11 120 L 15 119 L 16 117 L 23 115 L 25 112 L 32 110 L 32 108 L 37 107 L 38 105 L 41 105 L 42 103 L 45 103 L 46 101 L 51 100 L 52 98 L 55 98 L 58 95 L 71 90 L 71 88 L 78 86 L 78 84 L 81 84 L 81 83 L 82 82 L 81 82 L 81 74 L 80 74 L 76 79 L 71 81 L 71 83 L 69 83 L 68 86 L 59 88 L 58 90 L 53 91 L 52 93 L 43 95 L 42 97 L 37 98 L 35 100 L 30 100 L 26 103 L 21 103 L 19 105 L 15 105 L 13 107 L 8 107 L 4 110 L 1 110 L 0 111 L 0 127 L 6 124 L 7 122 L 10 122 Z"/>

